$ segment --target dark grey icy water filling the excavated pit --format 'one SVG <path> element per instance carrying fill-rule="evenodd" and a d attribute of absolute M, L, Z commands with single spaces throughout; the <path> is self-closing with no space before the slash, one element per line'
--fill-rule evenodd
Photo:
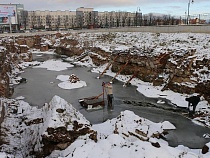
<path fill-rule="evenodd" d="M 44 61 L 52 59 L 55 56 L 45 55 L 34 59 Z M 131 110 L 140 117 L 147 118 L 153 122 L 170 121 L 176 126 L 176 130 L 170 131 L 166 136 L 169 145 L 185 145 L 190 148 L 202 148 L 210 139 L 203 138 L 203 134 L 210 133 L 209 128 L 194 124 L 191 120 L 172 111 L 163 110 L 155 107 L 134 106 L 133 104 L 125 104 L 124 100 L 135 100 L 143 103 L 156 104 L 157 99 L 146 98 L 138 91 L 135 86 L 123 87 L 123 83 L 114 81 L 114 111 L 110 111 L 106 107 L 101 110 L 87 111 L 82 108 L 78 99 L 97 96 L 102 93 L 102 82 L 110 81 L 111 77 L 103 76 L 97 79 L 98 74 L 92 73 L 90 68 L 73 67 L 64 71 L 48 71 L 42 68 L 27 68 L 22 77 L 27 78 L 27 83 L 22 83 L 15 87 L 13 98 L 24 96 L 25 101 L 32 106 L 42 107 L 44 103 L 49 102 L 54 95 L 58 95 L 71 103 L 79 110 L 92 124 L 101 123 L 107 119 L 114 118 L 121 111 Z M 86 81 L 87 87 L 64 90 L 58 87 L 60 80 L 58 75 L 76 74 L 81 80 Z M 171 105 L 164 105 L 171 106 Z"/>

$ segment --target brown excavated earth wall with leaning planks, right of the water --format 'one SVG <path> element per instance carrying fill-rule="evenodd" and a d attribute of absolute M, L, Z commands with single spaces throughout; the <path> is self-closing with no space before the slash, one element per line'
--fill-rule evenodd
<path fill-rule="evenodd" d="M 94 47 L 93 44 L 88 41 L 84 41 L 84 47 L 76 47 L 79 41 L 63 38 L 60 41 L 60 46 L 56 47 L 56 53 L 67 56 L 78 56 L 82 54 L 85 50 L 90 52 L 95 52 L 96 54 L 89 54 L 92 58 L 93 63 L 97 66 L 103 65 L 105 63 L 112 64 L 111 70 L 113 72 L 132 75 L 145 82 L 151 82 L 154 86 L 164 85 L 162 91 L 170 89 L 178 93 L 193 94 L 199 93 L 208 102 L 210 102 L 210 82 L 200 82 L 193 81 L 191 78 L 198 77 L 194 72 L 208 68 L 210 69 L 210 60 L 207 58 L 195 59 L 192 57 L 196 49 L 186 50 L 165 50 L 159 56 L 152 55 L 153 48 L 136 48 L 126 51 L 114 51 L 110 55 L 109 52 L 105 52 L 98 47 Z M 179 41 L 177 41 L 179 42 Z M 71 45 L 72 47 L 66 47 Z M 136 52 L 141 52 L 141 55 L 136 54 Z M 100 55 L 100 57 L 98 57 Z M 84 56 L 82 56 L 84 57 Z M 102 57 L 102 58 L 101 58 Z M 170 59 L 176 60 L 176 64 Z M 208 74 L 209 72 L 203 70 L 202 74 Z M 167 76 L 164 79 L 163 75 Z M 188 86 L 188 85 L 195 85 Z"/>

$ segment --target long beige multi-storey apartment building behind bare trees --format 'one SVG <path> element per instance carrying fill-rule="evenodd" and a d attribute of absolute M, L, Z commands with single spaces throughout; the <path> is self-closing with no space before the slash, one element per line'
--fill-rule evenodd
<path fill-rule="evenodd" d="M 68 28 L 107 28 L 140 26 L 140 12 L 98 12 L 93 8 L 77 8 L 76 11 L 28 11 L 26 28 L 68 29 Z"/>

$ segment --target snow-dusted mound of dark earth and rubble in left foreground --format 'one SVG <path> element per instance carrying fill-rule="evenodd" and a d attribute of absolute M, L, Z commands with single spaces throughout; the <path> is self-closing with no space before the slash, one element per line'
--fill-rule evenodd
<path fill-rule="evenodd" d="M 59 96 L 54 96 L 41 109 L 22 100 L 2 102 L 7 106 L 1 125 L 4 133 L 1 140 L 5 141 L 2 149 L 6 153 L 46 157 L 54 150 L 66 149 L 79 137 L 97 142 L 97 132 L 90 122 Z"/>

